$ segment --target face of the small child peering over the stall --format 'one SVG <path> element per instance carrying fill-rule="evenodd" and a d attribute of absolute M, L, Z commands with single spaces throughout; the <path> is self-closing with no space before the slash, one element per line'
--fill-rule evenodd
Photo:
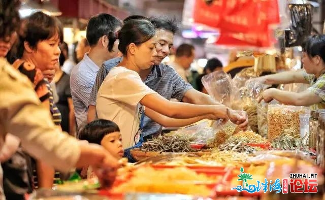
<path fill-rule="evenodd" d="M 117 159 L 123 157 L 124 149 L 120 132 L 111 132 L 106 135 L 101 141 L 101 145 Z"/>

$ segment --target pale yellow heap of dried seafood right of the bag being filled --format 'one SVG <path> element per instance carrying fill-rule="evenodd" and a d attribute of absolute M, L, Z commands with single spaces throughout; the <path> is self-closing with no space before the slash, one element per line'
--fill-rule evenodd
<path fill-rule="evenodd" d="M 238 134 L 231 136 L 227 142 L 241 141 L 242 143 L 264 144 L 268 141 L 253 131 L 240 131 Z"/>

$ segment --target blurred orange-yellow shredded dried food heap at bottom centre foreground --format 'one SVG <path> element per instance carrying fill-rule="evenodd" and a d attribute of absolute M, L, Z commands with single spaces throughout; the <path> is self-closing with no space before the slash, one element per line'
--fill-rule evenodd
<path fill-rule="evenodd" d="M 145 166 L 134 171 L 130 180 L 113 188 L 113 191 L 209 196 L 211 191 L 204 183 L 215 183 L 216 179 L 216 177 L 210 178 L 204 174 L 198 174 L 188 168 L 155 170 L 150 166 Z"/>

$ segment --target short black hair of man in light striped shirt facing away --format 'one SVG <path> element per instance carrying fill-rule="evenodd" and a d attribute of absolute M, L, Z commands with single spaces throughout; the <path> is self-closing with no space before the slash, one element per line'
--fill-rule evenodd
<path fill-rule="evenodd" d="M 87 24 L 86 38 L 90 46 L 98 43 L 98 40 L 107 36 L 111 31 L 122 25 L 122 21 L 113 15 L 102 13 L 92 17 Z M 112 52 L 114 43 L 109 43 L 108 50 Z"/>

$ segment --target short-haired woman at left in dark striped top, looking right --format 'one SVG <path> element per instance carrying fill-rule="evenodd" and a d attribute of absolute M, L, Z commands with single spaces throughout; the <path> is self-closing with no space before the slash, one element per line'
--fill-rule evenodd
<path fill-rule="evenodd" d="M 17 57 L 20 59 L 14 63 L 34 83 L 41 102 L 49 109 L 53 122 L 60 129 L 61 114 L 54 104 L 49 82 L 59 67 L 59 44 L 62 41 L 63 32 L 58 20 L 42 12 L 34 13 L 26 21 L 18 47 Z M 52 188 L 54 169 L 38 160 L 36 172 L 38 187 Z"/>

